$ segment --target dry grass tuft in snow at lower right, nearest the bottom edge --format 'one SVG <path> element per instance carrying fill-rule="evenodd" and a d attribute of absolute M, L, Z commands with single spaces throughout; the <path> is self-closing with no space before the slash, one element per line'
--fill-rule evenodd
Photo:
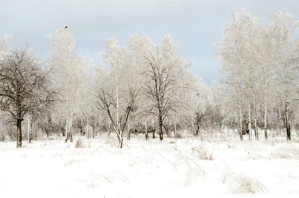
<path fill-rule="evenodd" d="M 268 190 L 264 185 L 245 174 L 234 176 L 230 188 L 232 189 L 231 193 L 233 194 L 268 193 Z"/>

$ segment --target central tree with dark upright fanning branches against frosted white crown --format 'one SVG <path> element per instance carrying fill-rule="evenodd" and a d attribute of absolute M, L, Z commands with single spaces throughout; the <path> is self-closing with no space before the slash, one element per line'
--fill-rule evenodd
<path fill-rule="evenodd" d="M 178 46 L 170 34 L 162 41 L 155 44 L 141 34 L 135 34 L 128 40 L 135 62 L 142 68 L 143 95 L 148 101 L 146 112 L 158 118 L 160 140 L 163 140 L 164 120 L 177 114 L 185 104 L 181 94 L 188 88 L 188 81 L 183 74 L 190 66 L 190 62 L 177 55 Z"/>

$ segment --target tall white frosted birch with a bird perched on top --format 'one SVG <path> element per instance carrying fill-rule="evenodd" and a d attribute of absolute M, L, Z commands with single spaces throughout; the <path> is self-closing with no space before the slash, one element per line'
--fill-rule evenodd
<path fill-rule="evenodd" d="M 57 105 L 57 112 L 64 115 L 65 121 L 65 142 L 70 139 L 72 142 L 73 122 L 75 115 L 79 113 L 85 81 L 91 60 L 77 55 L 75 51 L 75 41 L 68 28 L 56 30 L 55 35 L 48 35 L 50 38 L 51 57 L 49 68 L 54 80 L 53 86 L 60 90 L 60 105 Z M 59 116 L 59 114 L 58 114 Z"/>

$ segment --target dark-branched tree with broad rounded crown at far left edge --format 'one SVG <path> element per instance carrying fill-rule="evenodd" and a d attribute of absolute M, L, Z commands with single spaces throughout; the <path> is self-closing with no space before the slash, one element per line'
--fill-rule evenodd
<path fill-rule="evenodd" d="M 17 147 L 22 146 L 21 122 L 28 112 L 50 108 L 55 92 L 49 89 L 49 79 L 35 54 L 20 45 L 8 51 L 0 61 L 0 109 L 17 127 Z"/>

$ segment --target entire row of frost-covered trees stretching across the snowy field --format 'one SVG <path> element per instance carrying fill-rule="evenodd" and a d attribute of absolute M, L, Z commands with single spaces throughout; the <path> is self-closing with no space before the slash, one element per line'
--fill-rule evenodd
<path fill-rule="evenodd" d="M 0 37 L 1 124 L 17 126 L 21 147 L 21 123 L 27 118 L 27 139 L 35 130 L 95 137 L 95 128 L 114 131 L 122 148 L 124 134 L 144 131 L 159 139 L 177 130 L 195 136 L 233 130 L 243 135 L 263 129 L 299 126 L 297 119 L 298 44 L 291 14 L 273 15 L 262 26 L 249 12 L 234 12 L 224 26 L 226 38 L 216 43 L 221 64 L 220 83 L 207 86 L 190 72 L 192 63 L 177 54 L 170 34 L 154 43 L 141 33 L 122 47 L 115 37 L 99 52 L 102 60 L 77 54 L 68 28 L 57 29 L 50 40 L 50 57 L 41 61 L 29 45 L 9 45 L 11 36 Z M 7 117 L 8 116 L 8 117 Z M 254 130 L 251 130 L 251 129 Z M 125 132 L 126 131 L 126 132 Z M 35 135 L 36 136 L 36 135 Z M 12 137 L 10 135 L 10 137 Z"/>

